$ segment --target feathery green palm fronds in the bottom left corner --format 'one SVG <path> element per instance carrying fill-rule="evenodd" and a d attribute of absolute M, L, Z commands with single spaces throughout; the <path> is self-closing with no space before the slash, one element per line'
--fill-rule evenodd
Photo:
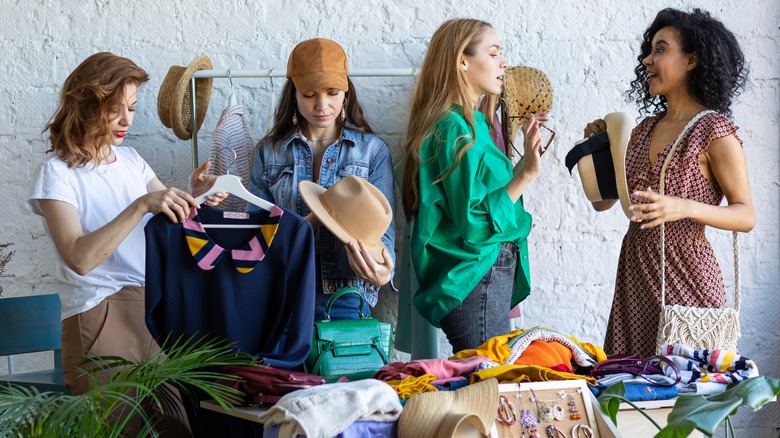
<path fill-rule="evenodd" d="M 119 437 L 129 421 L 141 421 L 139 436 L 159 436 L 155 419 L 145 406 L 171 414 L 176 409 L 175 388 L 186 403 L 192 390 L 206 393 L 225 409 L 243 395 L 217 384 L 218 378 L 235 377 L 214 371 L 224 365 L 247 365 L 251 356 L 236 354 L 221 341 L 177 340 L 140 363 L 121 357 L 92 357 L 93 384 L 82 395 L 40 393 L 34 388 L 0 388 L 0 436 L 4 437 Z M 107 382 L 97 383 L 97 373 L 117 368 Z M 123 410 L 121 420 L 116 411 Z M 114 419 L 113 421 L 110 421 Z"/>

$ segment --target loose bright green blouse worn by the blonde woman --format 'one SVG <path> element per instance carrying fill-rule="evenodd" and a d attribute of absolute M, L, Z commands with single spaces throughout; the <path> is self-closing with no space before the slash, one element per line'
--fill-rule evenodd
<path fill-rule="evenodd" d="M 420 150 L 420 203 L 411 243 L 420 284 L 414 306 L 436 327 L 493 266 L 503 242 L 520 248 L 512 306 L 531 290 L 526 242 L 531 215 L 522 197 L 517 202 L 509 197 L 505 186 L 513 175 L 512 163 L 490 138 L 485 116 L 473 114 L 476 142 L 443 181 L 433 183 L 473 137 L 462 107 L 449 109 Z"/>

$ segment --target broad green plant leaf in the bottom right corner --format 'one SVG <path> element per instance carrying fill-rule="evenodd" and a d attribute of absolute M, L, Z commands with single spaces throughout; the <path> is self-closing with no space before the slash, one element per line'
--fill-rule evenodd
<path fill-rule="evenodd" d="M 720 423 L 741 406 L 755 411 L 777 395 L 780 395 L 780 379 L 760 376 L 733 383 L 720 394 L 680 396 L 669 413 L 666 427 L 656 438 L 686 437 L 694 429 L 712 436 Z"/>

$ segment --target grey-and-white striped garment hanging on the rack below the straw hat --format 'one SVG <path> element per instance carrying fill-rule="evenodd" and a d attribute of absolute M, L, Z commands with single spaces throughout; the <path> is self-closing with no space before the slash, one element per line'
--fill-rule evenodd
<path fill-rule="evenodd" d="M 231 105 L 222 112 L 211 136 L 209 160 L 210 173 L 238 175 L 248 187 L 254 143 L 244 121 L 244 111 L 243 105 Z M 229 196 L 220 203 L 223 210 L 243 211 L 245 207 L 246 201 L 236 196 Z"/>

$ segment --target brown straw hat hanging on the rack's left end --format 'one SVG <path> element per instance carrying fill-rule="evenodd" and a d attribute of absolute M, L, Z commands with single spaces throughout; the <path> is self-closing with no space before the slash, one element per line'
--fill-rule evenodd
<path fill-rule="evenodd" d="M 211 60 L 208 56 L 198 56 L 187 67 L 173 65 L 165 75 L 160 93 L 157 95 L 157 114 L 160 121 L 173 129 L 176 137 L 182 140 L 192 138 L 192 89 L 190 80 L 198 70 L 211 70 Z M 211 98 L 211 86 L 214 79 L 196 79 L 195 91 L 198 97 L 198 129 L 206 117 L 206 110 Z"/>

